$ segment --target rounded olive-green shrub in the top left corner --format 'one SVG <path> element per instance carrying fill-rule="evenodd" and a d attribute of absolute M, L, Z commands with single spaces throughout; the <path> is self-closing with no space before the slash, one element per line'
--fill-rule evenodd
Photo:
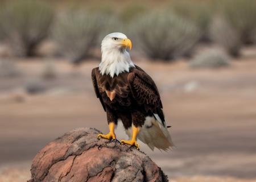
<path fill-rule="evenodd" d="M 9 1 L 0 19 L 4 39 L 17 56 L 33 56 L 47 37 L 53 10 L 43 1 Z"/>

